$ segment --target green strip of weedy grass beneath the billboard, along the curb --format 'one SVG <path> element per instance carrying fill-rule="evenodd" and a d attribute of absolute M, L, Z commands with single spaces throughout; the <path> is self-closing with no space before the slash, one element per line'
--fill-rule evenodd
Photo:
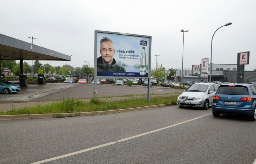
<path fill-rule="evenodd" d="M 80 112 L 97 112 L 116 109 L 127 109 L 149 105 L 176 105 L 177 95 L 167 97 L 152 97 L 150 103 L 147 98 L 134 98 L 125 99 L 121 101 L 102 101 L 98 99 L 95 101 L 93 98 L 90 102 L 84 102 L 82 100 L 74 100 L 74 98 L 67 98 L 60 102 L 37 105 L 34 107 L 25 107 L 18 110 L 12 110 L 8 112 L 0 112 L 0 115 L 14 115 L 14 114 L 47 114 L 47 113 L 80 113 Z"/>

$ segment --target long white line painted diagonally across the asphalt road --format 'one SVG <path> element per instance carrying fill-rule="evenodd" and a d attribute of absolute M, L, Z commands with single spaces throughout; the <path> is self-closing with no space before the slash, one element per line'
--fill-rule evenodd
<path fill-rule="evenodd" d="M 139 134 L 139 135 L 136 135 L 136 136 L 132 136 L 132 137 L 120 139 L 120 140 L 117 140 L 116 142 L 109 142 L 109 143 L 107 143 L 107 144 L 101 144 L 101 145 L 94 146 L 94 147 L 91 147 L 91 148 L 88 148 L 88 149 L 84 149 L 84 150 L 80 150 L 80 151 L 77 151 L 77 152 L 71 152 L 71 153 L 68 153 L 68 154 L 64 154 L 64 155 L 61 155 L 61 156 L 49 158 L 49 159 L 46 159 L 46 160 L 40 160 L 40 161 L 31 163 L 31 164 L 45 163 L 45 162 L 49 162 L 49 161 L 52 161 L 52 160 L 58 160 L 58 159 L 65 158 L 65 157 L 68 157 L 68 156 L 71 156 L 71 155 L 79 154 L 79 153 L 82 153 L 82 152 L 88 152 L 88 151 L 90 151 L 90 150 L 98 149 L 98 148 L 100 148 L 100 147 L 108 146 L 108 145 L 111 145 L 111 144 L 116 144 L 116 143 L 118 143 L 118 142 L 123 142 L 123 141 L 129 140 L 129 139 L 132 139 L 132 138 L 144 136 L 144 135 L 147 135 L 147 134 L 150 134 L 150 133 L 154 133 L 154 132 L 157 132 L 157 131 L 160 131 L 160 130 L 164 130 L 164 129 L 167 129 L 167 128 L 171 128 L 171 127 L 174 127 L 174 126 L 177 126 L 177 125 L 180 125 L 180 124 L 189 122 L 189 121 L 193 121 L 193 120 L 202 118 L 202 117 L 204 117 L 204 116 L 208 116 L 208 115 L 210 115 L 210 114 L 212 114 L 212 113 L 205 114 L 205 115 L 202 115 L 202 116 L 200 116 L 200 117 L 196 117 L 196 118 L 194 118 L 194 119 L 190 119 L 190 120 L 183 121 L 183 122 L 180 122 L 180 123 L 177 123 L 177 124 L 173 124 L 173 125 L 170 125 L 170 126 L 167 126 L 167 127 L 164 127 L 164 128 L 160 128 L 160 129 L 156 129 L 156 130 L 149 131 L 149 132 L 146 132 L 146 133 L 142 133 L 142 134 Z M 253 164 L 256 164 L 256 160 L 254 161 Z"/>

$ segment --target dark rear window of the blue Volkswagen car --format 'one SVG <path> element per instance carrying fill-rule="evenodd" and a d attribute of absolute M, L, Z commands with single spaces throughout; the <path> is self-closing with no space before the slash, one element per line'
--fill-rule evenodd
<path fill-rule="evenodd" d="M 217 90 L 216 94 L 221 95 L 249 95 L 247 87 L 245 86 L 237 86 L 237 85 L 226 85 L 226 86 L 220 86 Z"/>

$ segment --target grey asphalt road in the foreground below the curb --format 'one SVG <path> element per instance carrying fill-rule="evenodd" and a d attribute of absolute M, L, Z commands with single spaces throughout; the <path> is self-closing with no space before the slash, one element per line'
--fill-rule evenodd
<path fill-rule="evenodd" d="M 55 157 L 46 163 L 252 164 L 255 130 L 255 122 L 245 116 L 214 118 L 211 108 L 177 105 L 108 115 L 0 120 L 0 163 Z"/>

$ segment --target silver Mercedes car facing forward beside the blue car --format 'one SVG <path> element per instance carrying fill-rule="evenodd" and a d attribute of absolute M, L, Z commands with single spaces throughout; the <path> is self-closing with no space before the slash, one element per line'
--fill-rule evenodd
<path fill-rule="evenodd" d="M 177 99 L 180 107 L 198 107 L 208 109 L 213 96 L 220 85 L 213 83 L 195 83 L 188 87 Z"/>

